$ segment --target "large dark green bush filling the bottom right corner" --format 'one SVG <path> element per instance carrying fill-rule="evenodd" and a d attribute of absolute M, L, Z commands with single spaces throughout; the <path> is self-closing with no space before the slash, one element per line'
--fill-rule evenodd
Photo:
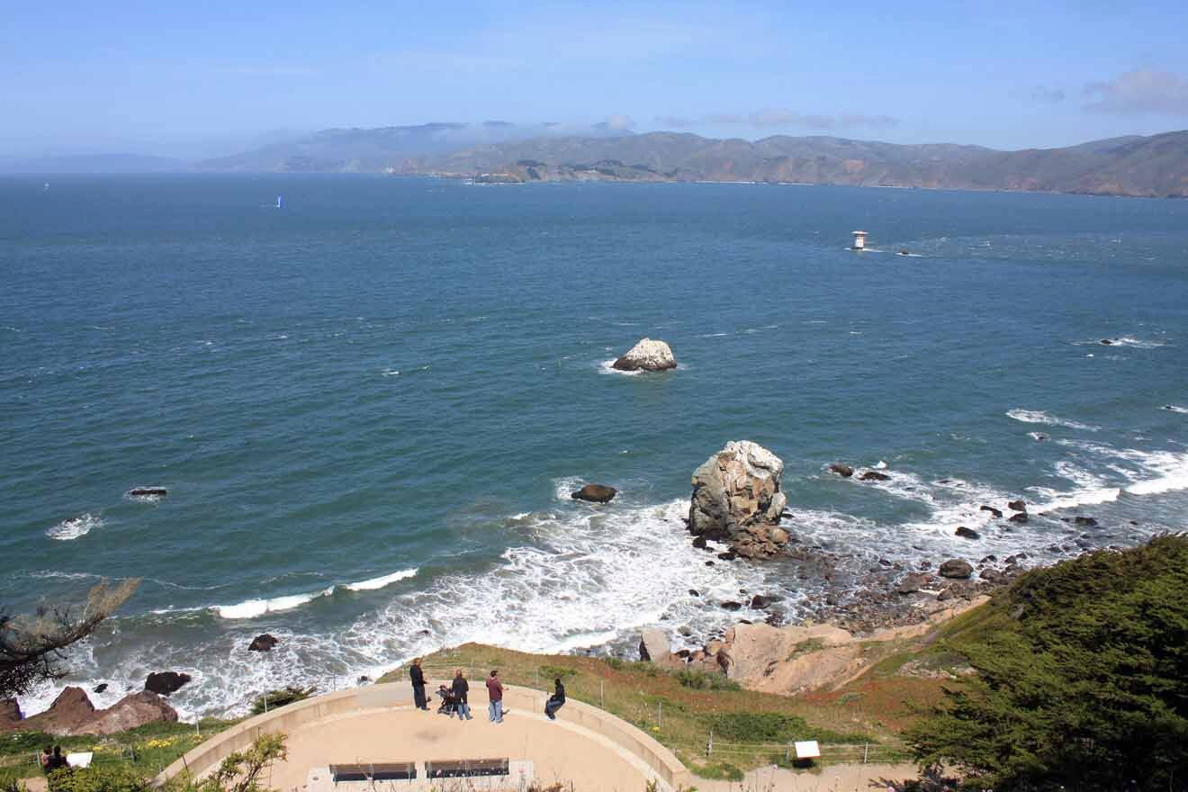
<path fill-rule="evenodd" d="M 997 790 L 1170 788 L 1188 778 L 1188 538 L 1020 576 L 948 631 L 978 676 L 909 734 Z"/>

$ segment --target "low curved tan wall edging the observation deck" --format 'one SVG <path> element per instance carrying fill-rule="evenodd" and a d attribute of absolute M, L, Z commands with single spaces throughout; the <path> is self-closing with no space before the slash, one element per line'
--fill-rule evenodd
<path fill-rule="evenodd" d="M 429 689 L 432 690 L 436 684 L 431 683 Z M 504 701 L 510 710 L 526 709 L 543 712 L 546 699 L 548 695 L 539 690 L 517 685 L 504 686 Z M 153 784 L 160 785 L 184 769 L 189 769 L 196 777 L 204 775 L 228 755 L 251 747 L 261 734 L 289 734 L 328 718 L 411 707 L 412 689 L 407 683 L 342 690 L 289 704 L 276 711 L 248 718 L 196 746 L 157 775 Z M 676 790 L 691 784 L 691 774 L 671 750 L 626 721 L 573 698 L 565 703 L 558 717 L 582 730 L 601 735 L 643 761 L 669 788 Z"/>

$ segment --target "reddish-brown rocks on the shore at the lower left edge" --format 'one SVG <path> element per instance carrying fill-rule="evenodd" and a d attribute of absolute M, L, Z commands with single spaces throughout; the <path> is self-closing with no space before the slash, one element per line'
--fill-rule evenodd
<path fill-rule="evenodd" d="M 13 702 L 15 708 L 15 702 Z M 13 717 L 15 715 L 17 717 Z M 21 718 L 20 709 L 0 709 L 0 730 L 44 731 L 57 736 L 115 734 L 158 721 L 176 721 L 177 710 L 147 690 L 129 693 L 107 709 L 96 710 L 82 688 L 67 688 L 50 709 Z"/>

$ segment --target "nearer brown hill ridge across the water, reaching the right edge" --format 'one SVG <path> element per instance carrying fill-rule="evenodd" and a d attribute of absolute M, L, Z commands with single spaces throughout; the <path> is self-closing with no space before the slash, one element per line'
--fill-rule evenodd
<path fill-rule="evenodd" d="M 655 132 L 479 146 L 409 159 L 394 170 L 482 180 L 790 182 L 1188 197 L 1188 131 L 1022 151 L 827 137 L 751 142 Z"/>

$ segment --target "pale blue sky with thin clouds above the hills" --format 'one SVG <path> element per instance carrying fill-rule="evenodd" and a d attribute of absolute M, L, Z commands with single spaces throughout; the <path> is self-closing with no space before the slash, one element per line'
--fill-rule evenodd
<path fill-rule="evenodd" d="M 0 156 L 428 121 L 996 148 L 1188 128 L 1183 0 L 0 7 Z"/>

